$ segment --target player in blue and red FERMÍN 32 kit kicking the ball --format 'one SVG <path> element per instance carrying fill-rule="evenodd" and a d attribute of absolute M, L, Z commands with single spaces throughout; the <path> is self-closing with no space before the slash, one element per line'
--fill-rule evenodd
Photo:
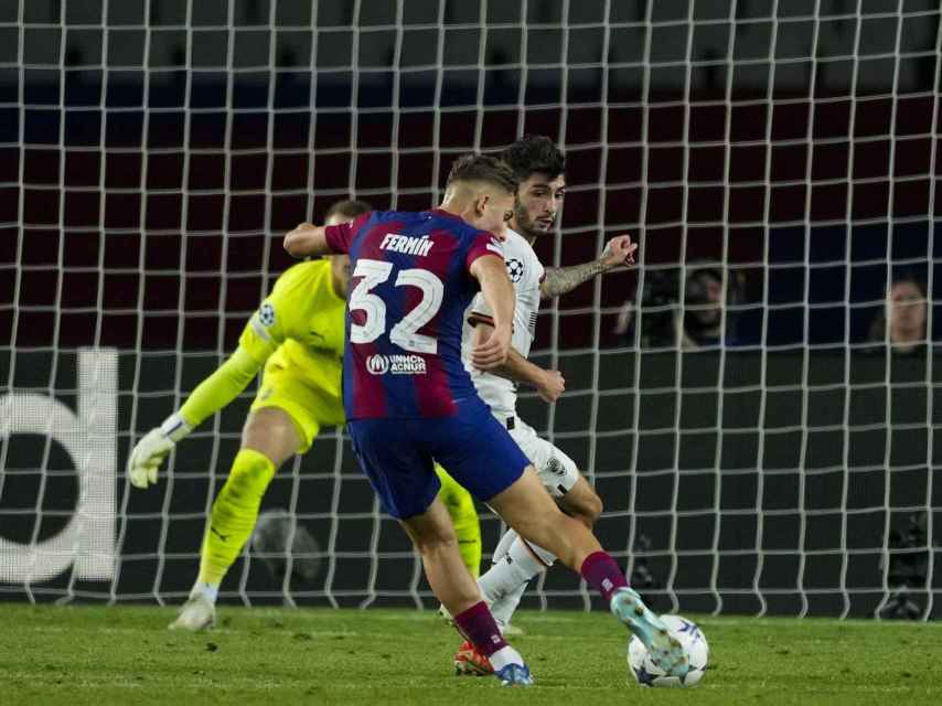
<path fill-rule="evenodd" d="M 490 370 L 507 359 L 514 291 L 492 234 L 513 216 L 515 190 L 506 164 L 469 154 L 453 164 L 439 208 L 374 212 L 327 227 L 301 224 L 286 235 L 285 247 L 296 257 L 350 254 L 343 393 L 354 451 L 384 510 L 420 553 L 436 596 L 501 683 L 531 684 L 529 670 L 461 564 L 437 498 L 435 459 L 522 537 L 580 571 L 661 666 L 683 676 L 687 665 L 677 641 L 628 588 L 591 532 L 543 490 L 462 364 L 464 311 L 479 287 L 493 327 L 478 336 L 471 362 Z"/>

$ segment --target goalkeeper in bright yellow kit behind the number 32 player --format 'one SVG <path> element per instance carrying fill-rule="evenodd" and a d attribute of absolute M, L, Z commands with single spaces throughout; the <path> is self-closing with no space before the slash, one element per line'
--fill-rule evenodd
<path fill-rule="evenodd" d="M 324 220 L 328 225 L 339 224 L 370 211 L 363 202 L 342 201 L 330 207 Z M 346 255 L 288 269 L 253 314 L 232 356 L 131 451 L 131 484 L 157 483 L 158 469 L 175 443 L 235 399 L 264 366 L 242 446 L 206 524 L 200 574 L 171 629 L 202 630 L 214 624 L 220 585 L 251 535 L 275 470 L 311 448 L 322 426 L 344 424 L 341 372 L 349 280 Z M 440 496 L 454 523 L 462 559 L 477 577 L 481 527 L 474 502 L 440 469 L 439 477 Z"/>

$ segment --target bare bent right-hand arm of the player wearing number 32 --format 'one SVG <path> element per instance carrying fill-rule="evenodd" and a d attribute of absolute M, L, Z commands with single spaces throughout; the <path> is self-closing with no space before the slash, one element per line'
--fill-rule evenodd
<path fill-rule="evenodd" d="M 481 285 L 484 301 L 493 312 L 494 327 L 471 349 L 471 364 L 489 371 L 503 365 L 511 350 L 516 296 L 503 256 L 484 255 L 471 263 L 470 272 Z"/>

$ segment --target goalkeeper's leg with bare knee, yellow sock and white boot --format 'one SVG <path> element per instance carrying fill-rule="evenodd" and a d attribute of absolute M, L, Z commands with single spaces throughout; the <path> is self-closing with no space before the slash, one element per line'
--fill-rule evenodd
<path fill-rule="evenodd" d="M 251 535 L 265 491 L 276 469 L 301 446 L 300 432 L 283 409 L 264 407 L 249 414 L 242 448 L 206 523 L 200 574 L 171 630 L 213 625 L 220 585 Z"/>

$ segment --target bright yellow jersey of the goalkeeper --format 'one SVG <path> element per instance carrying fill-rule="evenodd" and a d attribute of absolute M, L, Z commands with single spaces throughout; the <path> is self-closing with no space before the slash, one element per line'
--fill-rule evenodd
<path fill-rule="evenodd" d="M 275 282 L 239 338 L 259 365 L 297 366 L 343 418 L 343 311 L 346 301 L 333 289 L 328 260 L 295 265 Z"/>

